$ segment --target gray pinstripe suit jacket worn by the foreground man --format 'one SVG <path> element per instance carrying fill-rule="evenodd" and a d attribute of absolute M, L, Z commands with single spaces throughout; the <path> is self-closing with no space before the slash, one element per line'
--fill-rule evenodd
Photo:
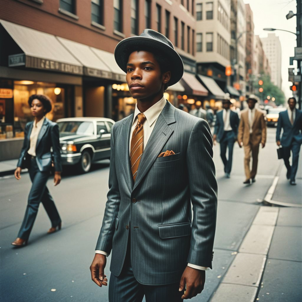
<path fill-rule="evenodd" d="M 108 201 L 96 249 L 108 253 L 112 249 L 110 271 L 120 275 L 131 229 L 131 262 L 137 281 L 178 282 L 187 262 L 212 268 L 217 182 L 210 129 L 204 120 L 167 102 L 133 182 L 132 121 L 133 114 L 115 123 L 111 131 Z M 175 155 L 157 157 L 166 150 Z"/>

